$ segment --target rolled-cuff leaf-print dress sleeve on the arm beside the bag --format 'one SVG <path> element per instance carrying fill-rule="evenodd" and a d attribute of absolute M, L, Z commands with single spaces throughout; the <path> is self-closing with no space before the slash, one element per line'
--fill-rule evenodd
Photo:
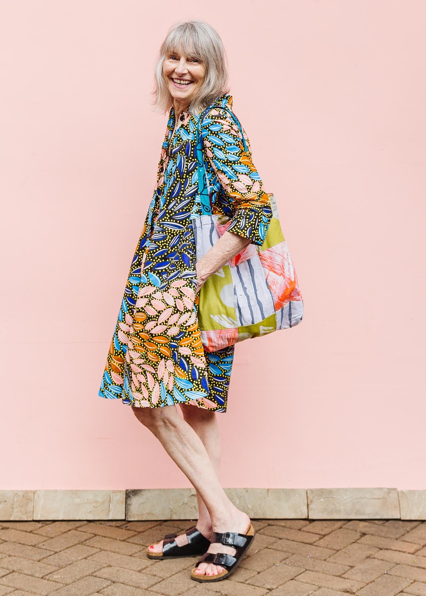
<path fill-rule="evenodd" d="M 244 132 L 244 149 L 239 127 L 220 107 L 213 108 L 202 125 L 205 156 L 229 198 L 233 216 L 228 231 L 249 238 L 261 246 L 266 238 L 272 210 L 255 168 L 249 139 Z"/>

